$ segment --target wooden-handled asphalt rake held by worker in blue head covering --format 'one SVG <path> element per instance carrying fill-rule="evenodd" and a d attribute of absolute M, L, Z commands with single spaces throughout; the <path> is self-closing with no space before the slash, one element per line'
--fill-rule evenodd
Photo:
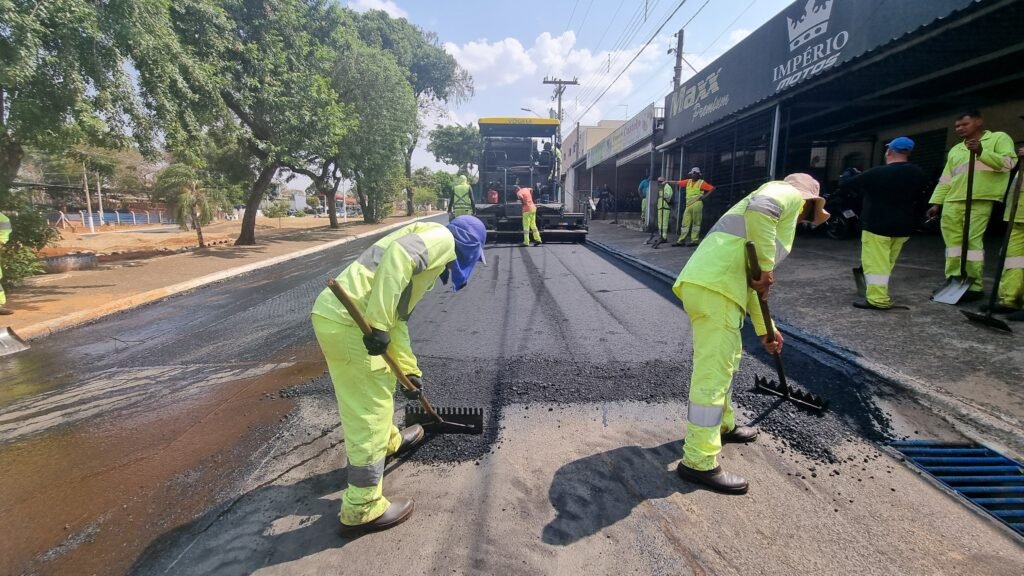
<path fill-rule="evenodd" d="M 341 300 L 341 303 L 348 311 L 348 315 L 352 317 L 352 320 L 355 321 L 359 330 L 369 336 L 372 332 L 370 324 L 367 323 L 367 319 L 359 313 L 359 308 L 355 306 L 352 298 L 345 293 L 341 285 L 333 278 L 328 281 L 327 285 L 334 292 L 334 295 Z M 410 392 L 420 389 L 413 382 L 409 381 L 406 373 L 401 371 L 398 363 L 395 362 L 394 357 L 390 353 L 385 351 L 383 356 L 384 362 L 391 368 L 391 373 L 398 378 L 398 383 L 401 384 L 401 387 Z M 479 408 L 441 408 L 435 410 L 430 405 L 426 395 L 421 392 L 420 408 L 406 407 L 406 425 L 411 426 L 413 424 L 420 424 L 425 430 L 437 434 L 482 434 L 483 410 Z"/>

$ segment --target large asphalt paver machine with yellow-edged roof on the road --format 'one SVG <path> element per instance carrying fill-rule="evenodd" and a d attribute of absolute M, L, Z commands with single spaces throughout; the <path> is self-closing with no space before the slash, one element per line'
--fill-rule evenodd
<path fill-rule="evenodd" d="M 565 209 L 554 156 L 558 120 L 481 118 L 483 156 L 476 190 L 476 215 L 493 242 L 522 241 L 522 204 L 515 187 L 534 190 L 537 228 L 545 242 L 584 242 L 588 214 Z"/>

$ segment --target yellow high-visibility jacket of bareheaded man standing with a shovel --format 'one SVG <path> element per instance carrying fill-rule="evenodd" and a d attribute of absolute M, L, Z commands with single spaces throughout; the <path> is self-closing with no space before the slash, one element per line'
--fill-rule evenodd
<path fill-rule="evenodd" d="M 1004 132 L 989 132 L 981 136 L 981 154 L 974 163 L 974 200 L 1002 200 L 1007 191 L 1010 170 L 1017 162 L 1014 141 Z M 967 173 L 971 162 L 971 151 L 964 142 L 949 150 L 946 166 L 942 169 L 939 183 L 929 200 L 931 204 L 967 201 Z"/>

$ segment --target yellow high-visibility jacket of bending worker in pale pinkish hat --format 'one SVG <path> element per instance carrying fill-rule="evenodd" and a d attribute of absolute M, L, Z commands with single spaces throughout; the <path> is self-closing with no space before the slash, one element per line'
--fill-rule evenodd
<path fill-rule="evenodd" d="M 771 181 L 754 191 L 719 218 L 672 290 L 679 297 L 684 283 L 714 290 L 750 314 L 755 331 L 765 334 L 757 292 L 748 284 L 745 245 L 754 242 L 763 272 L 774 271 L 793 248 L 803 207 L 800 191 L 784 181 Z"/>

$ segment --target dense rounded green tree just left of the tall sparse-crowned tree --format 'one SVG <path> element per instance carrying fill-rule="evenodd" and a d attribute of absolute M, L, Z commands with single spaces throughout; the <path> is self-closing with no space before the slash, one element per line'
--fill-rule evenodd
<path fill-rule="evenodd" d="M 355 179 L 362 219 L 377 222 L 408 181 L 401 168 L 416 130 L 416 98 L 394 58 L 361 43 L 341 53 L 334 85 L 360 118 L 340 142 L 339 167 Z"/>

